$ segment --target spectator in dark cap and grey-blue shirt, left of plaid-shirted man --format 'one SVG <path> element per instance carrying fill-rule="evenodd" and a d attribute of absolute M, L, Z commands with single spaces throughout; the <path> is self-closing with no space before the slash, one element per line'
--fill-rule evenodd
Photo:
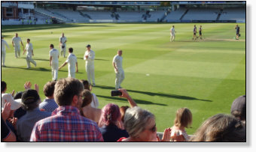
<path fill-rule="evenodd" d="M 22 107 L 26 110 L 17 121 L 17 136 L 21 142 L 29 142 L 35 123 L 50 116 L 50 112 L 41 112 L 38 108 L 41 103 L 38 92 L 32 89 L 24 91 L 22 95 Z"/>

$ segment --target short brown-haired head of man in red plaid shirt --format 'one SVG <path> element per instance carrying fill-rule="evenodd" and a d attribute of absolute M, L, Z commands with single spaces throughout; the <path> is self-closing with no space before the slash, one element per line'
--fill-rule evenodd
<path fill-rule="evenodd" d="M 54 100 L 59 106 L 81 107 L 84 85 L 74 78 L 59 79 L 54 88 Z M 79 107 L 80 106 L 80 107 Z"/>

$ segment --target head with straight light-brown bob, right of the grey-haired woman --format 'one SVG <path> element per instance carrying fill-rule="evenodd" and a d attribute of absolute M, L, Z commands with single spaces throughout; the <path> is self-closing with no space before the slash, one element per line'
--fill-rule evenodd
<path fill-rule="evenodd" d="M 176 127 L 188 127 L 192 124 L 192 113 L 187 108 L 178 109 L 174 120 Z"/>

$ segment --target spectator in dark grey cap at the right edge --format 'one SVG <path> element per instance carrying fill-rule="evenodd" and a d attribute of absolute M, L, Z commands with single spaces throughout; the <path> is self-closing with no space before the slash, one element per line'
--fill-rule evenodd
<path fill-rule="evenodd" d="M 245 127 L 245 121 L 246 121 L 246 97 L 245 97 L 245 95 L 236 98 L 236 100 L 233 100 L 230 113 L 235 118 L 240 120 L 242 122 L 242 125 Z"/>

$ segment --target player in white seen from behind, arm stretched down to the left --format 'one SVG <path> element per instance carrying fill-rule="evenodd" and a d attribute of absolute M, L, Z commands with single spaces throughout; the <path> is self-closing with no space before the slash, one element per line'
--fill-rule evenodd
<path fill-rule="evenodd" d="M 69 77 L 75 78 L 75 72 L 78 73 L 78 59 L 77 57 L 73 54 L 73 48 L 69 48 L 69 56 L 67 60 L 62 64 L 62 66 L 59 67 L 59 70 L 64 67 L 66 64 L 69 63 Z M 75 70 L 75 67 L 77 70 Z"/>

